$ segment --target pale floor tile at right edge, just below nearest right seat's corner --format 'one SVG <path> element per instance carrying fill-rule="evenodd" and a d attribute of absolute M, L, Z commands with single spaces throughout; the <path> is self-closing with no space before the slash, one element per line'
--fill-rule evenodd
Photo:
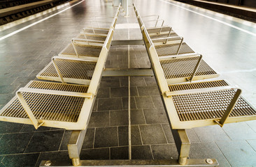
<path fill-rule="evenodd" d="M 222 129 L 232 140 L 256 139 L 256 132 L 246 122 L 226 124 Z"/>

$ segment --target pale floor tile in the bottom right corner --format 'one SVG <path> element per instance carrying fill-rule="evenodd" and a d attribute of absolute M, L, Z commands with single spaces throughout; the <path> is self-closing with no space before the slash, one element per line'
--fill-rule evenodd
<path fill-rule="evenodd" d="M 232 166 L 255 166 L 256 152 L 246 141 L 216 141 Z"/>

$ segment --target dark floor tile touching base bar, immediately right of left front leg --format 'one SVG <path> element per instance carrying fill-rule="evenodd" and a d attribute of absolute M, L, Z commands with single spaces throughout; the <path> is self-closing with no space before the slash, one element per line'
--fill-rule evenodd
<path fill-rule="evenodd" d="M 82 150 L 80 159 L 109 159 L 109 148 Z"/>

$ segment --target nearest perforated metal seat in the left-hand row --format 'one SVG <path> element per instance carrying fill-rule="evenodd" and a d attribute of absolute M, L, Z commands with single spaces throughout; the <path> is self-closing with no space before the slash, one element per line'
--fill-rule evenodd
<path fill-rule="evenodd" d="M 76 129 L 76 125 L 80 124 L 78 121 L 81 121 L 79 120 L 80 114 L 90 112 L 90 105 L 92 106 L 92 102 L 87 108 L 84 106 L 86 100 L 92 101 L 94 98 L 87 93 L 88 88 L 89 86 L 30 81 L 19 91 L 29 106 L 32 116 L 38 120 L 40 125 Z M 0 120 L 33 123 L 17 96 L 3 106 L 0 111 Z M 39 124 L 35 126 L 40 126 Z M 83 127 L 85 125 L 87 125 L 86 122 Z"/>

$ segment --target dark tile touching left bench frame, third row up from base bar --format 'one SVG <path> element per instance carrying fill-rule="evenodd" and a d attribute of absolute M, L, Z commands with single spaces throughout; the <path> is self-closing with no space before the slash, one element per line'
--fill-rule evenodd
<path fill-rule="evenodd" d="M 88 127 L 108 127 L 109 112 L 92 112 Z"/>

